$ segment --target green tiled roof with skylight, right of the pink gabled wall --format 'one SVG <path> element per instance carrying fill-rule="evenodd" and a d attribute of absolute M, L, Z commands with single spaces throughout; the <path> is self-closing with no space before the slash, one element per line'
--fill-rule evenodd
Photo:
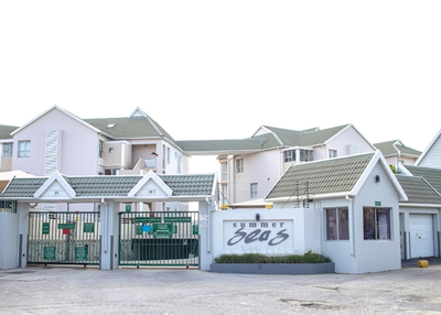
<path fill-rule="evenodd" d="M 174 139 L 150 117 L 96 118 L 83 120 L 115 139 L 164 137 L 175 142 Z M 115 126 L 112 128 L 108 128 L 109 124 L 114 123 Z"/>

